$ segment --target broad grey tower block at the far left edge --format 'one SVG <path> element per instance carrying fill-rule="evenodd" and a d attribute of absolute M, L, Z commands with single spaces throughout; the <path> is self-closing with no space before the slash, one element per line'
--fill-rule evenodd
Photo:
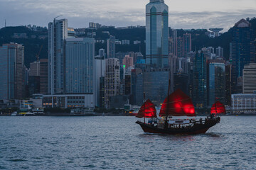
<path fill-rule="evenodd" d="M 10 43 L 0 47 L 0 99 L 25 98 L 23 45 Z"/>

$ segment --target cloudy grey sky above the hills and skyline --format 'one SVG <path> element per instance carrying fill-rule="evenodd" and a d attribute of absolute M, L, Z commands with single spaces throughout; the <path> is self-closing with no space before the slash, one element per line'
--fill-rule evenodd
<path fill-rule="evenodd" d="M 68 26 L 85 28 L 89 22 L 106 26 L 144 26 L 149 0 L 0 0 L 0 28 L 47 26 L 63 15 Z M 165 0 L 171 28 L 228 28 L 241 18 L 256 16 L 256 0 Z"/>

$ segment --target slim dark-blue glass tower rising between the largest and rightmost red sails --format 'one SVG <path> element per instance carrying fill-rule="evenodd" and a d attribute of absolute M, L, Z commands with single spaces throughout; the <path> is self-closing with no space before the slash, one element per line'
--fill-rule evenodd
<path fill-rule="evenodd" d="M 207 106 L 207 64 L 203 51 L 193 60 L 193 102 L 196 108 Z"/>

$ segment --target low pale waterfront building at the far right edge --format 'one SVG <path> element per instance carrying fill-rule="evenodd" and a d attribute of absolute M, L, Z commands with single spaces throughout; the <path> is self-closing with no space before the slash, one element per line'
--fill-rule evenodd
<path fill-rule="evenodd" d="M 256 94 L 232 94 L 231 103 L 233 114 L 256 113 Z"/>

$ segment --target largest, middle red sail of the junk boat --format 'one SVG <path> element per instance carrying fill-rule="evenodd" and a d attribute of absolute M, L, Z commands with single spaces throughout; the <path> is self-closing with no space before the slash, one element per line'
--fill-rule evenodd
<path fill-rule="evenodd" d="M 169 95 L 161 106 L 159 116 L 196 116 L 195 107 L 192 100 L 178 89 Z"/>

